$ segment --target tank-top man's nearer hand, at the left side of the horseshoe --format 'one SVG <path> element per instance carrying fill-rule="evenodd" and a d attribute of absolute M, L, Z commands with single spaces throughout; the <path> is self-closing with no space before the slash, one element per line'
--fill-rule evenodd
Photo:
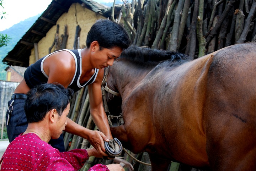
<path fill-rule="evenodd" d="M 103 134 L 100 131 L 90 131 L 89 133 L 89 142 L 91 143 L 91 145 L 97 150 L 98 154 L 102 156 L 107 156 L 107 154 L 105 153 L 105 147 L 104 147 L 104 141 L 109 141 L 109 139 L 107 138 L 107 136 L 105 136 L 105 134 Z M 95 155 L 94 155 L 95 156 Z"/>

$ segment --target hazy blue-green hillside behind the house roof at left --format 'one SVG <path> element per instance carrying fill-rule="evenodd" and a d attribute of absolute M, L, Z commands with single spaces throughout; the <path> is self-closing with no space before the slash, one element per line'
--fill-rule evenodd
<path fill-rule="evenodd" d="M 10 37 L 9 44 L 7 46 L 2 46 L 0 48 L 0 80 L 6 80 L 5 68 L 8 66 L 6 64 L 3 64 L 2 60 L 9 53 L 9 51 L 11 51 L 14 48 L 14 46 L 28 31 L 28 29 L 30 29 L 30 27 L 34 24 L 34 22 L 38 19 L 39 16 L 41 16 L 41 14 L 38 14 L 37 16 L 34 17 L 30 17 L 24 21 L 21 21 L 13 25 L 9 29 L 0 32 L 2 34 L 7 34 Z"/>

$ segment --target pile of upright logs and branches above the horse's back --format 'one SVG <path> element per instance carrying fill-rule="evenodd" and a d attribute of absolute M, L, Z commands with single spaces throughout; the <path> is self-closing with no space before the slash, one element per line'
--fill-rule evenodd
<path fill-rule="evenodd" d="M 256 39 L 255 0 L 133 0 L 122 11 L 133 44 L 194 59 Z"/>

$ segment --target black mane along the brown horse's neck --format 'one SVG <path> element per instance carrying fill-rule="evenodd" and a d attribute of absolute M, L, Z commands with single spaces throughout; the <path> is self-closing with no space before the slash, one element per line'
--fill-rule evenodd
<path fill-rule="evenodd" d="M 182 53 L 168 50 L 156 50 L 150 48 L 139 48 L 131 45 L 124 50 L 120 58 L 127 59 L 139 65 L 156 65 L 163 61 L 180 62 L 190 61 L 192 58 Z"/>

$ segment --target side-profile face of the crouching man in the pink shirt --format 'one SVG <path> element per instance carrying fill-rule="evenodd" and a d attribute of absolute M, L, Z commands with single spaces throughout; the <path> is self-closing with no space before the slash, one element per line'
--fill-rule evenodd
<path fill-rule="evenodd" d="M 58 139 L 62 134 L 62 131 L 65 129 L 65 126 L 67 125 L 67 116 L 69 113 L 69 107 L 70 107 L 70 104 L 68 104 L 66 109 L 63 111 L 62 115 L 58 118 L 56 122 L 56 132 L 52 133 L 52 139 Z"/>

